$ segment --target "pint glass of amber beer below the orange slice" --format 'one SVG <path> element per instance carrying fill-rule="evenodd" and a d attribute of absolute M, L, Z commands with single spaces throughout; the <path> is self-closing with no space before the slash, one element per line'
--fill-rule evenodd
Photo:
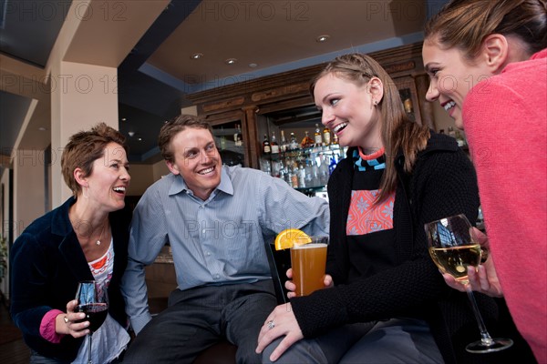
<path fill-rule="evenodd" d="M 325 288 L 326 247 L 328 237 L 309 237 L 311 242 L 294 243 L 291 248 L 293 283 L 296 296 L 306 296 L 313 291 Z"/>

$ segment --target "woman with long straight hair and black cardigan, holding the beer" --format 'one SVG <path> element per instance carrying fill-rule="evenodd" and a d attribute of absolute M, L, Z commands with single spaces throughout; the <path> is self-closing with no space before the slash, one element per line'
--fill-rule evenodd
<path fill-rule="evenodd" d="M 444 283 L 423 227 L 459 213 L 476 219 L 469 158 L 408 119 L 369 56 L 337 57 L 312 93 L 322 123 L 349 147 L 328 182 L 326 288 L 274 309 L 258 339 L 263 362 L 499 362 L 466 353 L 468 335 L 478 336 L 468 298 Z M 492 318 L 497 306 L 481 296 L 480 309 Z"/>

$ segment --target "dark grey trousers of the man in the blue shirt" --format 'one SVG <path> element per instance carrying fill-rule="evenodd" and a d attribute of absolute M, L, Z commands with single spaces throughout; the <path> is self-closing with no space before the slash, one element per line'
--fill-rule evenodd
<path fill-rule="evenodd" d="M 260 363 L 258 333 L 277 305 L 271 279 L 174 290 L 169 308 L 129 346 L 124 363 L 191 363 L 222 338 L 238 347 L 238 363 Z"/>

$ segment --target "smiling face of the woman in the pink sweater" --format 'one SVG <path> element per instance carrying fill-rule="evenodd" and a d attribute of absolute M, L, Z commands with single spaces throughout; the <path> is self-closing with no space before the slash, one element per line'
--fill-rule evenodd
<path fill-rule="evenodd" d="M 461 110 L 465 98 L 473 86 L 493 76 L 485 62 L 479 56 L 472 63 L 464 58 L 456 47 L 443 49 L 435 40 L 426 40 L 422 48 L 424 66 L 430 77 L 426 98 L 428 101 L 439 101 L 456 126 L 463 128 Z"/>

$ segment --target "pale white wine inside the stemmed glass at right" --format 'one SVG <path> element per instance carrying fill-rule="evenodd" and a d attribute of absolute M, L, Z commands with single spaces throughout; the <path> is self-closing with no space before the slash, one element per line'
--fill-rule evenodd
<path fill-rule="evenodd" d="M 429 248 L 429 255 L 437 267 L 463 284 L 468 283 L 468 266 L 479 267 L 480 245 L 464 245 L 452 248 Z"/>

